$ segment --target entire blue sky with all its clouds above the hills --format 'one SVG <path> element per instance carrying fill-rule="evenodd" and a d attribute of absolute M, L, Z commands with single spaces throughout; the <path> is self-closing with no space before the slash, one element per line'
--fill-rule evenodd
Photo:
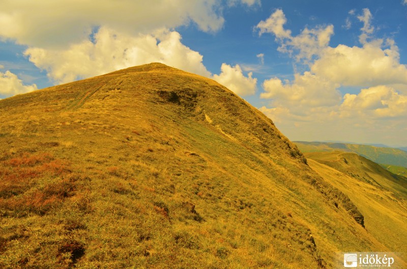
<path fill-rule="evenodd" d="M 407 145 L 407 0 L 19 0 L 0 98 L 162 62 L 217 80 L 291 140 Z"/>

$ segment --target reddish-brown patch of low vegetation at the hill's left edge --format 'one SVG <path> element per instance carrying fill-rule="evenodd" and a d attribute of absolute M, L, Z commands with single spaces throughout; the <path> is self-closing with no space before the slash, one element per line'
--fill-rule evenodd
<path fill-rule="evenodd" d="M 76 180 L 70 176 L 69 164 L 49 153 L 23 153 L 0 164 L 1 215 L 42 215 L 73 195 Z"/>

